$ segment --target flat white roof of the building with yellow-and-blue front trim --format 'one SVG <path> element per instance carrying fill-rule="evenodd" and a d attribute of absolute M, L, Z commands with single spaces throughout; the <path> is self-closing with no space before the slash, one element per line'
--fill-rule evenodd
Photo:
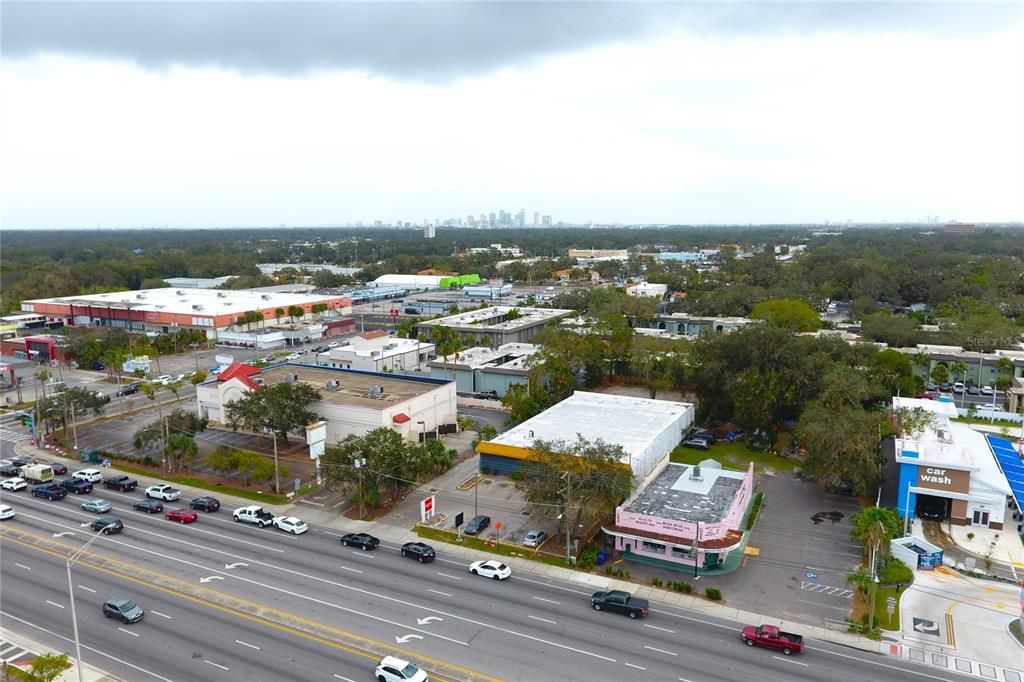
<path fill-rule="evenodd" d="M 580 434 L 592 442 L 600 438 L 622 445 L 627 455 L 638 455 L 692 407 L 688 402 L 577 391 L 489 442 L 528 449 L 535 440 L 573 442 Z"/>

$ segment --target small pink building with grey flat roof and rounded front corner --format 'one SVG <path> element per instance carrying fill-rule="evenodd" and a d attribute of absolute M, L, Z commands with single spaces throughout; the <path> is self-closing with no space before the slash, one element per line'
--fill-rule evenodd
<path fill-rule="evenodd" d="M 604 531 L 625 559 L 692 569 L 720 566 L 743 540 L 743 518 L 754 495 L 754 465 L 729 471 L 715 460 L 672 464 L 615 508 Z"/>

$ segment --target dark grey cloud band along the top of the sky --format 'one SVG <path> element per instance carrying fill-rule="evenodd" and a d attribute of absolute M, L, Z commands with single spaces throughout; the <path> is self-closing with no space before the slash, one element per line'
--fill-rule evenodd
<path fill-rule="evenodd" d="M 719 36 L 1005 27 L 1020 3 L 4 2 L 5 57 L 71 53 L 144 68 L 364 70 L 444 80 L 682 29 Z"/>

